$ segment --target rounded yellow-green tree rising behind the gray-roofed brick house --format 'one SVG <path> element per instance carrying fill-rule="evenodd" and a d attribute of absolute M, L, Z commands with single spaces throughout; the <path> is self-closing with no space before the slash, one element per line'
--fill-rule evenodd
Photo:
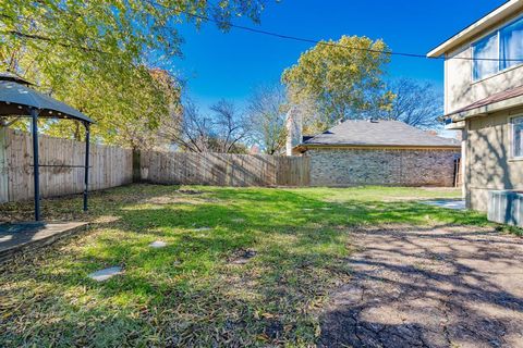
<path fill-rule="evenodd" d="M 340 120 L 362 117 L 365 110 L 390 108 L 393 95 L 384 89 L 390 60 L 382 40 L 342 36 L 321 41 L 287 69 L 282 82 L 295 103 L 313 104 L 316 130 Z"/>

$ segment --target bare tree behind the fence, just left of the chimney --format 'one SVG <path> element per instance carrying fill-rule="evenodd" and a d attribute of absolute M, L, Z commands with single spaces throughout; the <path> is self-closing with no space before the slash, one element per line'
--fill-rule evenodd
<path fill-rule="evenodd" d="M 285 147 L 289 103 L 281 86 L 259 87 L 248 103 L 251 138 L 264 152 L 275 154 Z"/>

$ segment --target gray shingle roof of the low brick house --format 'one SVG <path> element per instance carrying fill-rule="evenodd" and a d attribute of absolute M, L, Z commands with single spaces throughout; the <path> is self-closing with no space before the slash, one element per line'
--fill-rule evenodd
<path fill-rule="evenodd" d="M 302 145 L 458 147 L 455 139 L 442 138 L 399 121 L 345 121 Z"/>

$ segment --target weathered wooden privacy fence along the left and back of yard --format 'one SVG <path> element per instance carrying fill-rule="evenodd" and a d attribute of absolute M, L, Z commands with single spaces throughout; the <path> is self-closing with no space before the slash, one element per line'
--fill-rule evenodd
<path fill-rule="evenodd" d="M 85 144 L 39 137 L 40 195 L 54 197 L 84 189 Z M 89 190 L 133 182 L 130 149 L 90 146 Z M 143 152 L 134 159 L 134 178 L 156 184 L 216 186 L 308 186 L 307 157 Z M 0 202 L 33 198 L 33 147 L 29 134 L 0 128 Z"/>

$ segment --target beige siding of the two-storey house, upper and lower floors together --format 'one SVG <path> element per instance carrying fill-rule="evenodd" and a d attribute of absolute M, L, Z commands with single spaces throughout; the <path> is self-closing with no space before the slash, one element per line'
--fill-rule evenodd
<path fill-rule="evenodd" d="M 523 66 L 473 82 L 471 44 L 521 16 L 514 11 L 502 23 L 492 23 L 460 48 L 448 52 L 445 62 L 445 112 L 452 113 L 494 94 L 523 84 Z M 464 195 L 470 208 L 485 211 L 489 190 L 523 190 L 523 161 L 510 158 L 510 117 L 522 110 L 503 111 L 466 121 L 463 129 Z"/>

